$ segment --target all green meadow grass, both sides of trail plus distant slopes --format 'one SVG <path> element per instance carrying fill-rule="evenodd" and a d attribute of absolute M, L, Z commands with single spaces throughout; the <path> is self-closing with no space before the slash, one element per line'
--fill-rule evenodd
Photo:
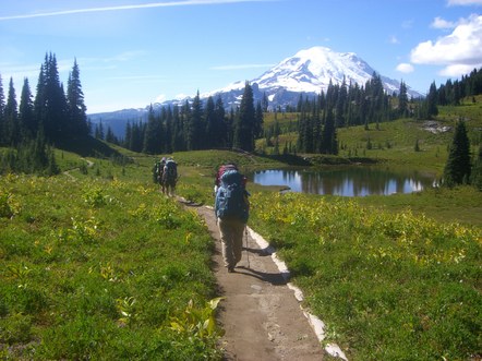
<path fill-rule="evenodd" d="M 480 101 L 441 108 L 438 121 L 453 125 L 460 117 L 478 145 Z M 285 127 L 293 119 L 278 115 Z M 339 157 L 316 161 L 366 158 L 441 175 L 451 133 L 405 119 L 341 129 L 338 137 Z M 296 142 L 292 134 L 281 140 L 281 148 L 284 140 Z M 82 156 L 56 149 L 67 173 L 55 178 L 0 178 L 0 357 L 219 359 L 218 330 L 194 326 L 212 325 L 217 302 L 208 302 L 217 294 L 203 221 L 153 183 L 162 155 L 95 148 Z M 227 151 L 172 156 L 178 193 L 205 204 L 214 202 L 224 161 L 244 172 L 286 167 Z M 249 190 L 250 226 L 279 249 L 306 305 L 326 322 L 326 341 L 350 360 L 480 358 L 480 192 L 344 200 Z"/>

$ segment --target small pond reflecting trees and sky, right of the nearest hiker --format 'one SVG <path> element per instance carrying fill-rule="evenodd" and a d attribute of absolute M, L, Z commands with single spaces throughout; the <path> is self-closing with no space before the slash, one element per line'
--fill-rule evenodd
<path fill-rule="evenodd" d="M 350 167 L 318 171 L 270 169 L 255 172 L 251 180 L 263 185 L 287 185 L 293 192 L 364 196 L 421 191 L 433 185 L 434 176 Z"/>

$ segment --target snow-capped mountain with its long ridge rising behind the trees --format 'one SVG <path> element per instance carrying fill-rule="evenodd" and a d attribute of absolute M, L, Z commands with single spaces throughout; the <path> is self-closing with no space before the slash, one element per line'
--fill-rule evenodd
<path fill-rule="evenodd" d="M 255 103 L 266 96 L 269 108 L 278 109 L 279 107 L 296 106 L 300 94 L 315 96 L 322 91 L 326 93 L 330 82 L 334 85 L 341 84 L 345 79 L 347 85 L 358 83 L 363 86 L 374 73 L 375 70 L 353 52 L 336 52 L 325 47 L 313 47 L 298 51 L 294 56 L 282 60 L 249 83 L 253 88 Z M 400 88 L 398 81 L 379 75 L 387 93 L 398 93 Z M 221 89 L 202 94 L 201 98 L 219 96 L 226 108 L 236 107 L 241 101 L 244 85 L 244 80 L 239 81 Z M 414 98 L 422 96 L 412 91 L 408 84 L 406 85 L 409 96 Z M 160 108 L 167 105 L 183 104 L 185 100 L 190 100 L 190 97 L 172 99 L 154 106 Z M 145 109 L 124 109 L 110 113 L 89 115 L 89 119 L 93 123 L 101 119 L 105 127 L 111 125 L 116 135 L 123 136 L 123 132 L 120 130 L 124 129 L 126 121 L 146 119 L 147 109 L 148 106 Z M 130 118 L 131 112 L 132 117 Z"/>

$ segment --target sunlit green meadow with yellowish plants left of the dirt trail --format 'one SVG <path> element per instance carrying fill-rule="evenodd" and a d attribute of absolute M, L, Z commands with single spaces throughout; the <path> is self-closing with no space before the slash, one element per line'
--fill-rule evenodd
<path fill-rule="evenodd" d="M 220 359 L 213 241 L 154 184 L 2 177 L 0 230 L 2 359 Z"/>

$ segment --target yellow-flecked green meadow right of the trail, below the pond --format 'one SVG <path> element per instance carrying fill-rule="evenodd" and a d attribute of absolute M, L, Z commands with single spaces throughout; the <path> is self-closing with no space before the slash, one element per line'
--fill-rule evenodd
<path fill-rule="evenodd" d="M 480 357 L 480 228 L 293 193 L 256 193 L 251 224 L 349 360 Z"/>

